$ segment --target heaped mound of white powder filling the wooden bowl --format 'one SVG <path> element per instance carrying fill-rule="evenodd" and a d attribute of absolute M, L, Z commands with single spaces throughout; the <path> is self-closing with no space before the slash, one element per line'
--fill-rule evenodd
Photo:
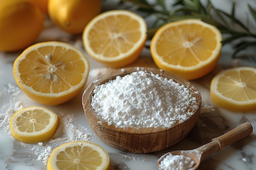
<path fill-rule="evenodd" d="M 93 92 L 94 111 L 119 127 L 170 127 L 193 114 L 186 110 L 196 100 L 184 85 L 145 71 L 117 76 Z"/>

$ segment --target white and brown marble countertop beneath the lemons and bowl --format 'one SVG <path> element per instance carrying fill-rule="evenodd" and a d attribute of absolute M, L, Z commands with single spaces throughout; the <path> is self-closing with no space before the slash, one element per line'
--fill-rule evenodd
<path fill-rule="evenodd" d="M 47 17 L 46 17 L 47 18 Z M 38 38 L 38 42 L 57 40 L 68 42 L 83 49 L 81 35 L 72 36 L 56 28 L 49 20 L 45 21 L 45 29 Z M 245 51 L 247 59 L 231 59 L 234 51 L 232 44 L 223 46 L 218 66 L 207 76 L 191 81 L 202 95 L 202 110 L 200 117 L 189 135 L 175 146 L 148 154 L 135 154 L 111 148 L 104 144 L 90 129 L 85 118 L 81 94 L 74 97 L 69 102 L 58 106 L 47 106 L 57 114 L 69 114 L 73 116 L 72 127 L 86 130 L 88 141 L 103 146 L 110 155 L 112 170 L 157 170 L 157 160 L 161 155 L 172 150 L 189 150 L 197 148 L 211 141 L 211 139 L 222 135 L 236 126 L 250 122 L 256 127 L 256 112 L 230 112 L 215 106 L 211 101 L 209 86 L 211 78 L 221 69 L 235 66 L 256 67 L 255 49 Z M 20 144 L 10 133 L 7 124 L 8 114 L 15 113 L 19 108 L 40 105 L 29 99 L 18 88 L 12 74 L 13 62 L 21 51 L 15 53 L 0 52 L 0 169 L 1 170 L 47 170 L 45 162 L 38 159 L 38 154 L 31 153 L 29 147 L 32 145 Z M 112 68 L 105 68 L 89 57 L 91 71 L 87 85 L 96 77 L 109 71 Z M 153 63 L 150 52 L 144 49 L 132 66 L 152 66 Z M 2 114 L 6 113 L 6 115 Z M 78 137 L 79 139 L 79 137 Z M 37 144 L 34 144 L 37 145 Z M 51 148 L 49 148 L 51 149 Z M 256 132 L 241 139 L 240 141 L 226 147 L 225 149 L 213 153 L 202 161 L 199 170 L 255 170 L 256 167 Z"/>

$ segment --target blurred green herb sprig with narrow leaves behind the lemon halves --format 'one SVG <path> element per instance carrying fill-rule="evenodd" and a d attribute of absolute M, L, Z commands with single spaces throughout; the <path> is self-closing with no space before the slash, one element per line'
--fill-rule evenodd
<path fill-rule="evenodd" d="M 210 0 L 202 4 L 200 0 L 176 0 L 175 3 L 167 3 L 166 0 L 155 0 L 149 3 L 147 0 L 121 0 L 126 2 L 128 8 L 140 12 L 144 18 L 154 15 L 156 20 L 153 26 L 148 29 L 148 38 L 151 39 L 157 29 L 172 21 L 186 18 L 199 18 L 204 22 L 216 26 L 223 34 L 222 44 L 237 42 L 234 48 L 233 58 L 238 57 L 237 53 L 249 46 L 256 46 L 256 34 L 249 30 L 249 26 L 243 24 L 235 16 L 236 4 L 232 4 L 231 14 L 217 9 Z M 130 4 L 130 5 L 129 5 Z M 248 4 L 249 15 L 252 15 L 253 22 L 256 23 L 256 11 Z"/>

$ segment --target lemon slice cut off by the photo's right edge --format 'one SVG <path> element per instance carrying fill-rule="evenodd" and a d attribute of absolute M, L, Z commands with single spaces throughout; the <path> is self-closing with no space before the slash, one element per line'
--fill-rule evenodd
<path fill-rule="evenodd" d="M 256 68 L 226 69 L 213 77 L 210 86 L 212 101 L 227 110 L 256 109 Z"/>

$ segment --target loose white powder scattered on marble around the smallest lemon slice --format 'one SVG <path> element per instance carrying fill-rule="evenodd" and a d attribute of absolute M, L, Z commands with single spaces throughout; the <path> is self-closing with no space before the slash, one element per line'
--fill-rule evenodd
<path fill-rule="evenodd" d="M 17 101 L 21 91 L 18 86 L 8 84 L 3 91 L 0 92 L 0 129 L 11 136 L 9 120 L 16 111 L 22 109 L 23 104 Z M 26 106 L 27 107 L 27 106 Z M 13 148 L 18 152 L 22 152 L 23 157 L 27 155 L 27 159 L 33 159 L 46 164 L 52 151 L 57 146 L 70 141 L 86 140 L 92 138 L 92 132 L 83 126 L 75 124 L 75 117 L 65 112 L 56 112 L 58 115 L 59 127 L 55 135 L 49 141 L 39 142 L 37 144 L 25 144 L 17 141 L 12 136 Z M 17 153 L 9 155 L 13 158 L 18 157 Z"/>

